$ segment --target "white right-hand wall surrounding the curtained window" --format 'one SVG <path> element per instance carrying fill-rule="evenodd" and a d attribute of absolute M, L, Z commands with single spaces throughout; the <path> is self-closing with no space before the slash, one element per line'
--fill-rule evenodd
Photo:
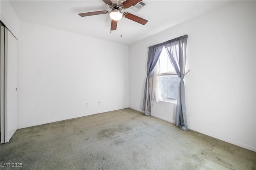
<path fill-rule="evenodd" d="M 255 7 L 255 1 L 230 2 L 130 45 L 130 107 L 142 110 L 148 47 L 188 34 L 188 127 L 256 151 Z M 174 122 L 174 107 L 158 102 L 152 115 Z"/>

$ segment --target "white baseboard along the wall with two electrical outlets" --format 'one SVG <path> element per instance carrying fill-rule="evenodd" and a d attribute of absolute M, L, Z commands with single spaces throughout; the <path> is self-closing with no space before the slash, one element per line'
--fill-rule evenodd
<path fill-rule="evenodd" d="M 27 124 L 27 125 L 18 125 L 18 129 L 22 129 L 22 128 L 26 128 L 26 127 L 32 127 L 32 126 L 37 126 L 37 125 L 43 125 L 43 124 L 46 124 L 46 123 L 53 123 L 53 122 L 56 122 L 56 121 L 74 119 L 74 118 L 78 118 L 78 117 L 84 117 L 84 116 L 94 115 L 94 114 L 98 114 L 98 113 L 104 113 L 104 112 L 108 112 L 108 111 L 125 109 L 125 108 L 128 108 L 128 107 L 129 106 L 124 106 L 124 107 L 118 107 L 118 108 L 113 108 L 113 109 L 108 109 L 108 110 L 100 110 L 100 111 L 94 111 L 94 112 L 90 112 L 90 113 L 84 113 L 84 114 L 80 114 L 80 115 L 62 117 L 62 118 L 59 118 L 59 119 L 54 119 L 54 120 L 49 120 L 49 121 L 41 121 L 41 122 L 31 123 L 31 124 Z"/>

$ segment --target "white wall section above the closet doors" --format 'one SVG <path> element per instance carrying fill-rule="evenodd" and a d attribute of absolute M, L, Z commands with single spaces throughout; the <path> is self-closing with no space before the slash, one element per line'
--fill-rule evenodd
<path fill-rule="evenodd" d="M 1 17 L 0 20 L 4 23 L 4 25 L 12 32 L 12 34 L 18 39 L 19 36 L 19 24 L 20 20 L 16 13 L 14 12 L 11 4 L 7 0 L 0 1 L 0 12 Z"/>

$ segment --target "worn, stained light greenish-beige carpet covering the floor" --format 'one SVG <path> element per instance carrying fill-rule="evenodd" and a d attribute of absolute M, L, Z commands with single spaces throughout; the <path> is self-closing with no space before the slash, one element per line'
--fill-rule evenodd
<path fill-rule="evenodd" d="M 1 166 L 24 170 L 255 169 L 256 152 L 121 109 L 18 129 Z"/>

